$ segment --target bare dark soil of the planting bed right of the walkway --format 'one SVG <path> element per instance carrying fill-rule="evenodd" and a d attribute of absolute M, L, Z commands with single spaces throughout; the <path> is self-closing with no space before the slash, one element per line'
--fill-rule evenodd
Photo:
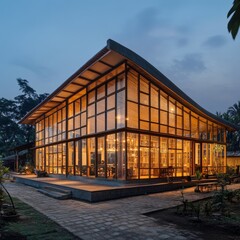
<path fill-rule="evenodd" d="M 201 204 L 201 203 L 200 203 Z M 240 240 L 240 203 L 228 203 L 228 217 L 219 212 L 211 216 L 183 214 L 183 206 L 146 214 L 155 218 L 159 225 L 172 224 L 179 230 L 187 230 L 204 240 Z"/>

